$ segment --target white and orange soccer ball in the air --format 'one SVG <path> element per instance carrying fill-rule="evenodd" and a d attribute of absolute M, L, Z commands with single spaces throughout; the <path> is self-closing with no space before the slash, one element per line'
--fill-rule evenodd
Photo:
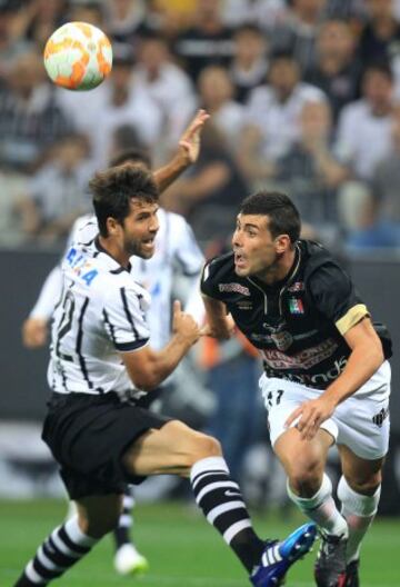
<path fill-rule="evenodd" d="M 92 24 L 68 22 L 46 43 L 44 67 L 57 86 L 69 90 L 92 90 L 111 71 L 111 43 Z"/>

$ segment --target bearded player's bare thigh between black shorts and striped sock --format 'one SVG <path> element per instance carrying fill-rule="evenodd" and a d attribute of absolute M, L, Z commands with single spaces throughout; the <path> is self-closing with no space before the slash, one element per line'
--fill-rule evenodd
<path fill-rule="evenodd" d="M 220 455 L 221 447 L 214 438 L 171 420 L 138 438 L 123 454 L 122 462 L 130 474 L 138 476 L 188 476 L 197 460 Z"/>

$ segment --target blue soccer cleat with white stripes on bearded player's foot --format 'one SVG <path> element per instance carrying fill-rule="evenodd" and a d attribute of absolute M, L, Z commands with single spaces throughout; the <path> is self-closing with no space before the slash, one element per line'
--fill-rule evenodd
<path fill-rule="evenodd" d="M 278 587 L 282 585 L 289 568 L 302 558 L 314 543 L 317 526 L 304 524 L 283 541 L 268 541 L 260 564 L 250 575 L 256 587 Z"/>

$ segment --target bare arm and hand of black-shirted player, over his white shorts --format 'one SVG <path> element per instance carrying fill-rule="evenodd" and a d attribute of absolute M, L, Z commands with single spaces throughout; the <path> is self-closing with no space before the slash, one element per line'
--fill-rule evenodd
<path fill-rule="evenodd" d="M 382 344 L 373 329 L 370 318 L 366 317 L 344 334 L 351 348 L 343 372 L 318 398 L 304 401 L 288 418 L 287 426 L 297 418 L 297 428 L 302 438 L 311 439 L 320 425 L 330 418 L 336 407 L 352 396 L 368 381 L 384 360 Z"/>

